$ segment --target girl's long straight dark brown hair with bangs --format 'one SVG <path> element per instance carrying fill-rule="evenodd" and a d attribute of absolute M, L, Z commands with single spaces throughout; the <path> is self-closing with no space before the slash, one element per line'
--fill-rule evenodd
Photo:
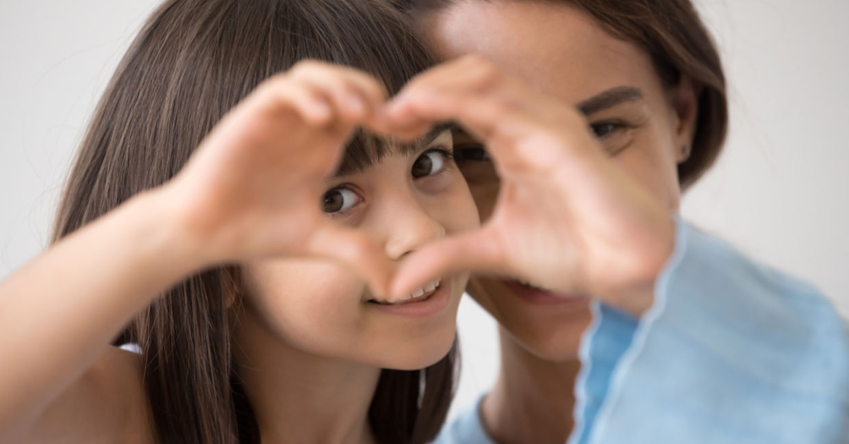
<path fill-rule="evenodd" d="M 365 70 L 391 93 L 432 63 L 402 16 L 381 0 L 166 1 L 98 104 L 53 241 L 168 181 L 239 99 L 301 59 Z M 374 147 L 374 138 L 360 133 L 346 156 L 368 161 L 374 150 L 366 146 Z M 241 290 L 237 267 L 198 273 L 161 295 L 116 340 L 143 350 L 144 389 L 160 442 L 259 442 L 230 350 L 225 304 Z M 453 393 L 455 353 L 421 372 L 383 371 L 369 411 L 380 443 L 436 436 Z"/>

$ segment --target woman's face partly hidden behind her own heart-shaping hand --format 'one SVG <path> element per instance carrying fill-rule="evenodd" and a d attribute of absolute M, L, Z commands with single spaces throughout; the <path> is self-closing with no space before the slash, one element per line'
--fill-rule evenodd
<path fill-rule="evenodd" d="M 658 200 L 678 207 L 676 165 L 692 139 L 694 95 L 686 86 L 662 87 L 640 48 L 612 37 L 565 2 L 458 2 L 417 25 L 441 59 L 483 54 L 578 107 L 616 165 Z M 459 133 L 454 142 L 458 166 L 486 221 L 498 177 L 474 140 Z M 531 353 L 553 361 L 575 358 L 592 318 L 588 302 L 523 298 L 532 290 L 515 284 L 473 277 L 469 293 Z"/>

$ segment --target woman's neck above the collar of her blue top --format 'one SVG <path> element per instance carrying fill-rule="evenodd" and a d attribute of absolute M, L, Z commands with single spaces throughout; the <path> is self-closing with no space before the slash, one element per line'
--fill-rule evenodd
<path fill-rule="evenodd" d="M 580 361 L 546 361 L 503 329 L 499 335 L 501 373 L 479 412 L 487 432 L 498 444 L 563 444 L 573 426 Z"/>

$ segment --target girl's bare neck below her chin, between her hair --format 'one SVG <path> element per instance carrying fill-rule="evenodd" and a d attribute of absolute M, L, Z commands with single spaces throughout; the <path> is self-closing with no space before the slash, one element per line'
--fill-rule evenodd
<path fill-rule="evenodd" d="M 374 442 L 368 407 L 380 368 L 297 350 L 250 314 L 236 335 L 233 353 L 262 444 Z"/>

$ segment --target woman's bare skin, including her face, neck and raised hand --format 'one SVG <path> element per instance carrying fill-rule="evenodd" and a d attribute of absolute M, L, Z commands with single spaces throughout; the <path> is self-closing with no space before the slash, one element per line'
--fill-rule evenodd
<path fill-rule="evenodd" d="M 396 126 L 414 133 L 437 117 L 464 125 L 469 134 L 455 139 L 458 163 L 487 222 L 479 233 L 417 252 L 411 258 L 417 269 L 402 268 L 395 288 L 447 269 L 482 272 L 471 279 L 469 293 L 498 320 L 502 351 L 498 381 L 481 406 L 486 430 L 499 443 L 565 442 L 573 425 L 578 345 L 592 318 L 588 301 L 596 298 L 638 316 L 651 305 L 655 278 L 671 255 L 670 218 L 680 198 L 675 166 L 685 160 L 683 148 L 693 138 L 694 86 L 686 78 L 674 87 L 661 85 L 643 50 L 565 3 L 471 0 L 427 14 L 418 25 L 441 59 L 480 55 L 454 62 L 456 70 L 413 81 L 396 100 Z M 550 102 L 587 110 L 599 94 L 622 87 L 637 90 L 638 97 L 582 113 Z M 477 88 L 479 96 L 466 98 L 480 103 L 445 98 L 457 88 Z M 475 106 L 477 115 L 486 116 L 475 115 Z M 508 123 L 523 120 L 525 126 Z M 585 137 L 587 127 L 594 141 Z M 481 141 L 492 160 L 475 160 L 481 158 Z M 524 146 L 533 155 L 523 153 Z M 546 157 L 549 148 L 559 150 Z M 523 175 L 546 180 L 537 186 Z M 526 200 L 553 208 L 549 221 L 562 222 L 558 227 L 517 216 L 542 210 L 499 196 L 499 189 L 526 191 Z M 584 224 L 600 228 L 583 229 Z M 534 232 L 548 244 L 535 245 Z M 633 255 L 633 261 L 609 261 L 606 275 L 593 273 L 605 239 L 616 239 L 607 244 L 622 257 Z M 556 252 L 558 245 L 571 245 L 574 257 Z M 641 258 L 650 265 L 638 269 L 634 264 Z M 572 267 L 576 262 L 586 266 Z M 559 270 L 549 268 L 552 263 Z M 518 295 L 539 292 L 509 288 L 514 278 L 552 291 L 527 301 Z"/>

